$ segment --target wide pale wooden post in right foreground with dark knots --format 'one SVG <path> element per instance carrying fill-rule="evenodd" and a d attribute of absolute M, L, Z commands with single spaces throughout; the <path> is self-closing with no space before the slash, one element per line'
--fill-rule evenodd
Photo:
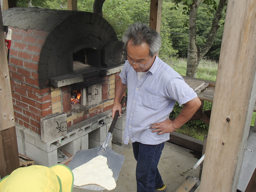
<path fill-rule="evenodd" d="M 256 96 L 256 1 L 229 0 L 200 192 L 236 192 Z"/>

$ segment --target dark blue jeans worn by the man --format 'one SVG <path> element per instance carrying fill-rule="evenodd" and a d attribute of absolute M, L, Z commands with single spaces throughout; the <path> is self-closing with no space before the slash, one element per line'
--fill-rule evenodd
<path fill-rule="evenodd" d="M 137 160 L 136 180 L 137 192 L 154 192 L 163 186 L 162 177 L 157 169 L 164 143 L 145 145 L 132 143 L 134 157 Z"/>

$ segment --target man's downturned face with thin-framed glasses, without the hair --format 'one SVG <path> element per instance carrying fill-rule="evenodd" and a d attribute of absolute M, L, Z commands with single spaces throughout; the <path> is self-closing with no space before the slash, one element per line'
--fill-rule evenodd
<path fill-rule="evenodd" d="M 154 63 L 156 55 L 154 55 L 153 58 L 149 55 L 147 43 L 144 42 L 139 46 L 133 46 L 131 41 L 132 40 L 128 41 L 127 44 L 127 59 L 131 61 L 129 64 L 136 72 L 147 72 Z M 132 62 L 137 64 L 133 64 Z"/>

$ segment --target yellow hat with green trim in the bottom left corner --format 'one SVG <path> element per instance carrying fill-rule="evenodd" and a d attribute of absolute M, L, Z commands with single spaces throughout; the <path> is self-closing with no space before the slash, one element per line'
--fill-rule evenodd
<path fill-rule="evenodd" d="M 72 192 L 73 172 L 58 164 L 29 166 L 14 170 L 0 180 L 0 192 Z"/>

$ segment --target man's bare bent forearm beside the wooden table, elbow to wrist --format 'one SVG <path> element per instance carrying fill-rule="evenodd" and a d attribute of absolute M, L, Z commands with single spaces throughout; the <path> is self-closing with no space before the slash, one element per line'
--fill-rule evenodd
<path fill-rule="evenodd" d="M 180 114 L 173 121 L 174 128 L 178 129 L 182 125 L 184 125 L 195 114 L 195 112 L 198 110 L 200 105 L 201 105 L 201 101 L 198 97 L 185 103 L 183 105 L 182 110 L 180 111 Z"/>

